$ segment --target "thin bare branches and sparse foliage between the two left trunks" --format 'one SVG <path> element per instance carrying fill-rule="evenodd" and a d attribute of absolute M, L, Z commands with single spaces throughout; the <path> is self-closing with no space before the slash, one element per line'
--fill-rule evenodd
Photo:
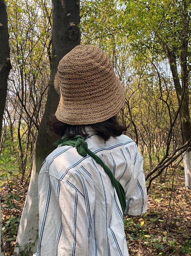
<path fill-rule="evenodd" d="M 33 158 L 47 95 L 51 66 L 51 10 L 50 5 L 41 0 L 7 0 L 6 6 L 12 71 L 8 80 L 0 152 L 7 154 L 6 145 L 11 142 L 10 151 L 15 155 L 21 179 L 24 179 L 27 162 Z"/>

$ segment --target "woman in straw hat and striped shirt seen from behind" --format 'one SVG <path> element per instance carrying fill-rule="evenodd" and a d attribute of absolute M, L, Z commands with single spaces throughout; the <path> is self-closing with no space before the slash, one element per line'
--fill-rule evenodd
<path fill-rule="evenodd" d="M 142 156 L 116 118 L 125 90 L 107 54 L 90 45 L 62 58 L 58 79 L 47 124 L 63 137 L 39 174 L 37 256 L 128 256 L 123 214 L 145 212 L 147 194 Z"/>

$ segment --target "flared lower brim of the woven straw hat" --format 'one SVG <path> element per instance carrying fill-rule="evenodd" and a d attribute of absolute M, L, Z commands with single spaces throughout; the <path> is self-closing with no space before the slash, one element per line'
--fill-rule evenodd
<path fill-rule="evenodd" d="M 62 95 L 56 111 L 59 121 L 70 125 L 90 125 L 101 123 L 115 116 L 125 103 L 125 89 L 116 77 L 113 91 L 102 95 L 101 100 L 82 102 L 64 102 Z"/>

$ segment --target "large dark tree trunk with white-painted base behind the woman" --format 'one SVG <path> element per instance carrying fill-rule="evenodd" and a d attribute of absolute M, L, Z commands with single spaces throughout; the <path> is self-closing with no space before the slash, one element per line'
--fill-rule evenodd
<path fill-rule="evenodd" d="M 25 200 L 21 222 L 19 225 L 17 242 L 20 248 L 15 248 L 18 253 L 25 244 L 34 243 L 38 229 L 38 175 L 44 159 L 55 149 L 53 142 L 58 139 L 49 130 L 45 121 L 55 114 L 60 98 L 60 89 L 57 77 L 57 67 L 62 57 L 80 44 L 80 22 L 79 0 L 52 0 L 53 28 L 52 28 L 52 65 L 49 91 L 45 113 L 39 128 L 33 159 L 33 170 L 29 190 Z M 31 248 L 35 252 L 35 246 Z"/>

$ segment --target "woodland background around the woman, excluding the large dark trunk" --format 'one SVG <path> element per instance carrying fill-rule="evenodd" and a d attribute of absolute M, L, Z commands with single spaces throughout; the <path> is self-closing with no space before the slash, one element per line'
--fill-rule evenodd
<path fill-rule="evenodd" d="M 191 255 L 191 167 L 189 161 L 183 161 L 191 151 L 191 2 L 57 2 L 63 2 L 66 10 L 72 4 L 77 8 L 76 14 L 64 14 L 68 30 L 72 29 L 66 46 L 81 43 L 102 48 L 127 91 L 119 118 L 128 125 L 127 135 L 144 157 L 149 198 L 146 214 L 124 219 L 130 255 Z M 19 255 L 31 255 L 36 246 L 36 239 L 21 246 L 16 236 L 29 181 L 33 180 L 34 159 L 45 151 L 43 145 L 35 146 L 39 129 L 45 131 L 41 141 L 45 148 L 49 136 L 41 121 L 51 94 L 48 87 L 55 85 L 51 70 L 57 68 L 55 61 L 60 58 L 53 47 L 53 32 L 59 33 L 65 22 L 57 15 L 57 30 L 54 28 L 52 4 L 49 0 L 6 1 L 12 65 L 0 141 L 6 255 L 14 255 L 14 246 Z M 77 20 L 71 20 L 72 15 Z M 56 105 L 58 94 L 51 95 L 50 106 Z"/>

